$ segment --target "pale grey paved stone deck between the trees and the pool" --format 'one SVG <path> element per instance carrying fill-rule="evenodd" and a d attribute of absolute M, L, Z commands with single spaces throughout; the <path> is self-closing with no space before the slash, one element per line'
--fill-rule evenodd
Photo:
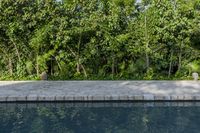
<path fill-rule="evenodd" d="M 200 100 L 199 81 L 0 81 L 0 101 Z"/>

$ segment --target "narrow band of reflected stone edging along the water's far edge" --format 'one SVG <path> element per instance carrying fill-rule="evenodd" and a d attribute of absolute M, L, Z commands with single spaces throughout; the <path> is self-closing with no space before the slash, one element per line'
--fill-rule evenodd
<path fill-rule="evenodd" d="M 200 102 L 178 101 L 178 102 L 13 102 L 1 103 L 0 109 L 16 108 L 132 108 L 132 107 L 200 107 Z"/>

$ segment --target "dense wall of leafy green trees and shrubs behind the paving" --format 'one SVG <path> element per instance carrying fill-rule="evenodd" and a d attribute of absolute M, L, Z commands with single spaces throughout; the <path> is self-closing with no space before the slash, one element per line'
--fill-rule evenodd
<path fill-rule="evenodd" d="M 1 0 L 0 79 L 189 79 L 200 0 Z"/>

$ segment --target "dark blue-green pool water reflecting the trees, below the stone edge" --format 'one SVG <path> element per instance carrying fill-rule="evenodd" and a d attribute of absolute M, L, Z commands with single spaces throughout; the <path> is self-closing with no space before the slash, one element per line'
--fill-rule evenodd
<path fill-rule="evenodd" d="M 0 133 L 199 133 L 200 103 L 0 103 Z"/>

